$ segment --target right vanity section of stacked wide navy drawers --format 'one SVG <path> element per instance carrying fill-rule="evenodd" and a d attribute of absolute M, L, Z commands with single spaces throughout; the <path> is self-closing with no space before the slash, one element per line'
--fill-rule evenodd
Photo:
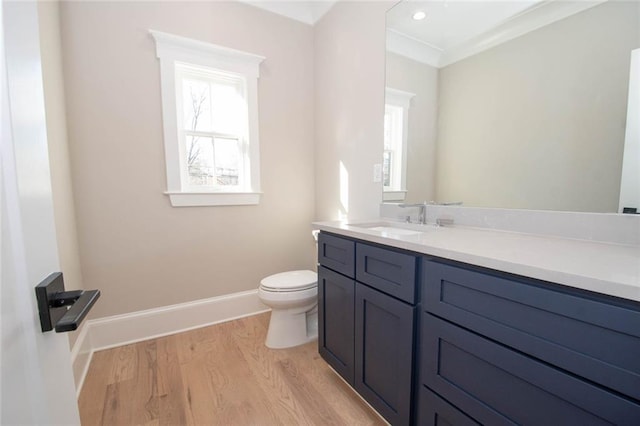
<path fill-rule="evenodd" d="M 640 304 L 424 262 L 421 424 L 639 425 L 639 374 Z"/>

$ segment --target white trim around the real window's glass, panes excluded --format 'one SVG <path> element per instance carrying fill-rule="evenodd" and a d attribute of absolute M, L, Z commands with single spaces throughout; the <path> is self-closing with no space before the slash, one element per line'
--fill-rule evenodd
<path fill-rule="evenodd" d="M 260 144 L 258 137 L 258 78 L 263 56 L 186 37 L 149 30 L 160 60 L 164 152 L 167 194 L 174 207 L 251 205 L 260 201 Z M 180 143 L 175 87 L 175 63 L 184 62 L 241 74 L 246 79 L 249 110 L 249 163 L 251 191 L 186 190 L 181 176 Z"/>

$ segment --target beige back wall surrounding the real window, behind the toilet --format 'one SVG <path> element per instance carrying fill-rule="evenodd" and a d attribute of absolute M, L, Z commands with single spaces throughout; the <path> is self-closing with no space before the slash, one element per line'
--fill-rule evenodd
<path fill-rule="evenodd" d="M 96 317 L 256 289 L 313 268 L 313 27 L 238 2 L 64 2 L 69 148 Z M 266 57 L 257 206 L 174 208 L 149 29 Z"/>

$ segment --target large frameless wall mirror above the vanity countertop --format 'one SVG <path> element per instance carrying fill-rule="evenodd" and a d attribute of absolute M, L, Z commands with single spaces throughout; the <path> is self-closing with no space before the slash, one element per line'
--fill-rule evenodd
<path fill-rule="evenodd" d="M 640 211 L 639 23 L 639 1 L 398 3 L 383 199 Z"/>

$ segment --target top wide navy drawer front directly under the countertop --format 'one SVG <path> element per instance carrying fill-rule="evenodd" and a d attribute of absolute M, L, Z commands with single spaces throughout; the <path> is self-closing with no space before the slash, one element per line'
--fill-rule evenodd
<path fill-rule="evenodd" d="M 640 312 L 427 261 L 428 312 L 640 400 Z"/>

